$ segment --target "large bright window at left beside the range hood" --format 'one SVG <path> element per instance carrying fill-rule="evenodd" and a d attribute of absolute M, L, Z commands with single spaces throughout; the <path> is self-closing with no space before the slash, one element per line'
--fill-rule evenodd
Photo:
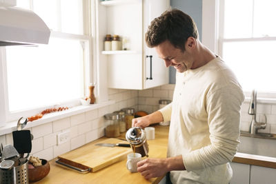
<path fill-rule="evenodd" d="M 79 104 L 92 83 L 91 37 L 83 29 L 90 26 L 83 13 L 89 12 L 88 1 L 20 0 L 17 6 L 37 13 L 51 36 L 48 45 L 0 48 L 6 94 L 0 110 L 6 121 L 53 105 Z"/>

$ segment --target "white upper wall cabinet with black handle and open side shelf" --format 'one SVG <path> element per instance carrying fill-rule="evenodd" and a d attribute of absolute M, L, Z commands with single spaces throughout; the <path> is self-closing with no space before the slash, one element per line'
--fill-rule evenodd
<path fill-rule="evenodd" d="M 111 0 L 98 6 L 99 62 L 106 62 L 108 88 L 143 90 L 168 83 L 168 68 L 144 34 L 152 19 L 170 6 L 169 0 Z M 106 34 L 127 40 L 127 50 L 104 51 Z M 151 60 L 151 61 L 150 61 Z"/>

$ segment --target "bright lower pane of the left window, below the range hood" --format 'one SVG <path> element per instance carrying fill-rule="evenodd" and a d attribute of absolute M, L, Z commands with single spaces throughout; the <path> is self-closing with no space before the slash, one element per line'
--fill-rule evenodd
<path fill-rule="evenodd" d="M 49 45 L 13 46 L 6 52 L 10 111 L 84 96 L 80 41 L 52 38 Z"/>

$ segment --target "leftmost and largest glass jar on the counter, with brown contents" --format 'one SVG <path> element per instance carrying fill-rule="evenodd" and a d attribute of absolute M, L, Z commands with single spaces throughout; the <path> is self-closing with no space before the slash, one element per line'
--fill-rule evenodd
<path fill-rule="evenodd" d="M 107 137 L 120 136 L 119 115 L 115 113 L 105 114 L 105 134 Z"/>

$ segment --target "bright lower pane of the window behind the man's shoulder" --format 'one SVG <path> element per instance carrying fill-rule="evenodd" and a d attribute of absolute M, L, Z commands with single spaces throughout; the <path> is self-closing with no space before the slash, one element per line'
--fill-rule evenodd
<path fill-rule="evenodd" d="M 276 41 L 224 43 L 224 60 L 233 69 L 244 90 L 255 88 L 276 92 L 275 45 Z"/>

